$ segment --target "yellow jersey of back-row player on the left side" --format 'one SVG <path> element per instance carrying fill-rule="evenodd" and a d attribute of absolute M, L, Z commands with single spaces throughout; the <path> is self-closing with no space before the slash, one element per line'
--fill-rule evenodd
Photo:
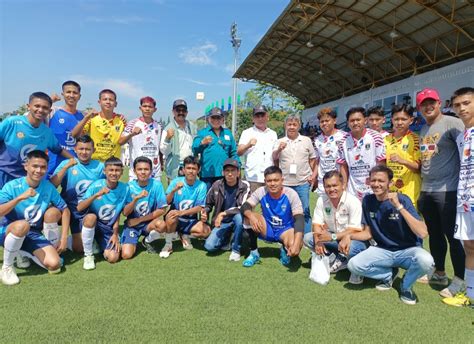
<path fill-rule="evenodd" d="M 125 123 L 117 114 L 114 114 L 110 120 L 99 114 L 87 121 L 84 126 L 84 133 L 94 140 L 92 159 L 102 162 L 113 156 L 120 159 L 118 141 L 124 129 Z"/>

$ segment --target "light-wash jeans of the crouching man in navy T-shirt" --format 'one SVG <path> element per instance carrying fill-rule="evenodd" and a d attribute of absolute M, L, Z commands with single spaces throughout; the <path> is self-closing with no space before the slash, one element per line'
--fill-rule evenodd
<path fill-rule="evenodd" d="M 349 260 L 347 267 L 356 275 L 386 282 L 392 279 L 392 268 L 405 269 L 401 284 L 402 291 L 405 291 L 410 290 L 416 280 L 428 273 L 433 265 L 431 254 L 417 246 L 399 251 L 370 246 Z"/>

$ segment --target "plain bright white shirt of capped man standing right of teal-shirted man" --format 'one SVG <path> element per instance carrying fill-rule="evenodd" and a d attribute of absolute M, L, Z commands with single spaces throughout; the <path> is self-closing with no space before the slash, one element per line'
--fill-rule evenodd
<path fill-rule="evenodd" d="M 243 154 L 245 156 L 245 179 L 263 183 L 263 171 L 273 165 L 273 145 L 278 138 L 276 132 L 270 128 L 262 131 L 253 126 L 242 132 L 239 145 L 246 145 L 252 138 L 257 139 L 257 143 Z"/>

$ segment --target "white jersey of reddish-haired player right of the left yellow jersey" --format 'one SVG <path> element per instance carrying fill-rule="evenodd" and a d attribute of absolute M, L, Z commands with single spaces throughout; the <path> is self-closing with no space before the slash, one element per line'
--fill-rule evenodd
<path fill-rule="evenodd" d="M 130 135 L 135 127 L 140 128 L 142 132 L 128 141 L 130 147 L 129 179 L 136 179 L 135 173 L 133 172 L 133 161 L 140 156 L 144 156 L 153 162 L 152 178 L 159 180 L 161 178 L 161 163 L 159 156 L 161 125 L 155 120 L 150 124 L 147 124 L 143 120 L 143 117 L 135 118 L 128 122 L 122 136 Z"/>

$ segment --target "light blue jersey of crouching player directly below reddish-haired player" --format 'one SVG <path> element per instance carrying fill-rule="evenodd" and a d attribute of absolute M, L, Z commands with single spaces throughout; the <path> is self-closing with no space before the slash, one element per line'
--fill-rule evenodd
<path fill-rule="evenodd" d="M 168 203 L 166 202 L 165 190 L 163 189 L 161 182 L 158 180 L 150 179 L 148 181 L 148 185 L 145 187 L 141 187 L 137 180 L 132 180 L 128 183 L 128 186 L 130 187 L 130 193 L 128 194 L 126 204 L 132 202 L 133 197 L 141 193 L 143 190 L 148 192 L 148 196 L 142 197 L 137 201 L 133 212 L 127 217 L 127 219 L 143 217 L 151 214 L 157 209 L 168 206 Z M 142 222 L 135 228 L 143 229 L 146 225 L 148 225 L 148 223 L 149 222 Z"/>

